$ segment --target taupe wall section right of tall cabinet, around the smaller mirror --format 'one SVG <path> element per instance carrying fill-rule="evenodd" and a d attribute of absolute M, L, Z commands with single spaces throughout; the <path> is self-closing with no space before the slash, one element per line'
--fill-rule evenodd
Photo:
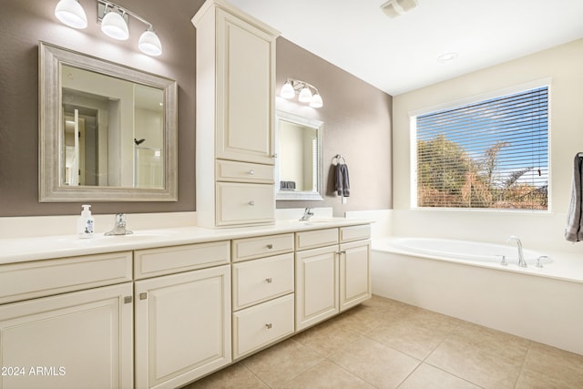
<path fill-rule="evenodd" d="M 276 107 L 324 122 L 326 192 L 323 201 L 277 201 L 277 207 L 332 207 L 334 216 L 343 216 L 346 210 L 392 208 L 393 97 L 282 37 L 277 41 L 276 73 L 278 95 L 290 77 L 312 84 L 322 96 L 321 108 L 281 97 L 276 98 Z M 333 192 L 332 162 L 336 154 L 346 159 L 350 172 L 351 194 L 346 204 Z"/>

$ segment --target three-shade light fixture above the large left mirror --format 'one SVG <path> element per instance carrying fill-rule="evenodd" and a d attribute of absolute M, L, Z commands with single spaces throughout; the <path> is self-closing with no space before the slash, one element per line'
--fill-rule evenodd
<path fill-rule="evenodd" d="M 66 26 L 74 28 L 87 27 L 87 15 L 79 0 L 60 0 L 56 5 L 55 15 Z M 107 36 L 118 40 L 127 40 L 129 37 L 129 16 L 148 26 L 146 31 L 139 37 L 139 49 L 148 54 L 148 56 L 162 54 L 162 44 L 151 23 L 120 5 L 111 3 L 108 0 L 97 0 L 97 23 L 101 24 L 101 31 Z"/>

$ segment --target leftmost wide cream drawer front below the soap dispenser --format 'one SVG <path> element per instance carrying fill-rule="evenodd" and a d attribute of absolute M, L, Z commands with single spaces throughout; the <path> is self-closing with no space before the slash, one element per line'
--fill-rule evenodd
<path fill-rule="evenodd" d="M 0 266 L 0 303 L 131 281 L 131 251 Z"/>

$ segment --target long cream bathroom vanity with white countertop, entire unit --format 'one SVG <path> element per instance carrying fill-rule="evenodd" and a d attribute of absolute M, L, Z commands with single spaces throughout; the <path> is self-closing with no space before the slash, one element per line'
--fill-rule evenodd
<path fill-rule="evenodd" d="M 2 387 L 176 388 L 371 297 L 366 220 L 0 244 Z"/>

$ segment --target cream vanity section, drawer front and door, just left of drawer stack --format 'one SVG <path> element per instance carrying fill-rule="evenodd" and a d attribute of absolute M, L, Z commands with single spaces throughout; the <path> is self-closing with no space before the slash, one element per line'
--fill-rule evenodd
<path fill-rule="evenodd" d="M 230 241 L 135 251 L 136 387 L 179 387 L 231 362 L 229 263 Z"/>

